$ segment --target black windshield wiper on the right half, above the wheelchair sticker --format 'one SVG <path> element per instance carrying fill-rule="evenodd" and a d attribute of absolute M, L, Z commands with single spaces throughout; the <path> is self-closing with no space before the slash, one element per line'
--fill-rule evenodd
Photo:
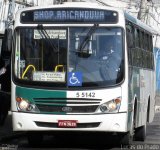
<path fill-rule="evenodd" d="M 85 46 L 87 45 L 87 43 L 89 42 L 91 35 L 95 32 L 95 30 L 97 29 L 99 25 L 98 24 L 94 24 L 88 31 L 86 37 L 84 38 L 84 40 L 82 41 L 82 43 L 79 46 L 79 52 L 81 52 Z"/>

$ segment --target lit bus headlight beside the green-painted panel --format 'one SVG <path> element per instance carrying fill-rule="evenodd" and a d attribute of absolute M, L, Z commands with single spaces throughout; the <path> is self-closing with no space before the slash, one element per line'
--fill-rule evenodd
<path fill-rule="evenodd" d="M 19 111 L 25 112 L 39 112 L 38 108 L 35 104 L 30 103 L 28 100 L 23 99 L 21 97 L 16 98 L 17 107 Z"/>

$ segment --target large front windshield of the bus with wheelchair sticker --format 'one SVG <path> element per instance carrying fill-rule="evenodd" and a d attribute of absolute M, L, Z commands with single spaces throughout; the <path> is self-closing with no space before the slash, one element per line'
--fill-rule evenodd
<path fill-rule="evenodd" d="M 119 84 L 124 78 L 123 30 L 93 27 L 17 28 L 16 81 L 63 88 Z"/>

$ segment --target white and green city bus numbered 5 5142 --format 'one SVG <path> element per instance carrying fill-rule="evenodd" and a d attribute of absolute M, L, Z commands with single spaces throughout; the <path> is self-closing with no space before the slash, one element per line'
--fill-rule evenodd
<path fill-rule="evenodd" d="M 145 139 L 155 105 L 151 28 L 86 2 L 25 8 L 15 18 L 14 131 L 28 131 L 30 144 L 40 143 L 39 131 Z"/>

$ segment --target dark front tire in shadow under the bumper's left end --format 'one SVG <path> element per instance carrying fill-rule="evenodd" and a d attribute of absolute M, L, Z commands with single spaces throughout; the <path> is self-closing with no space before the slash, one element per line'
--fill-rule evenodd
<path fill-rule="evenodd" d="M 41 147 L 41 144 L 43 142 L 43 135 L 36 132 L 29 132 L 27 134 L 28 144 L 31 147 Z"/>

